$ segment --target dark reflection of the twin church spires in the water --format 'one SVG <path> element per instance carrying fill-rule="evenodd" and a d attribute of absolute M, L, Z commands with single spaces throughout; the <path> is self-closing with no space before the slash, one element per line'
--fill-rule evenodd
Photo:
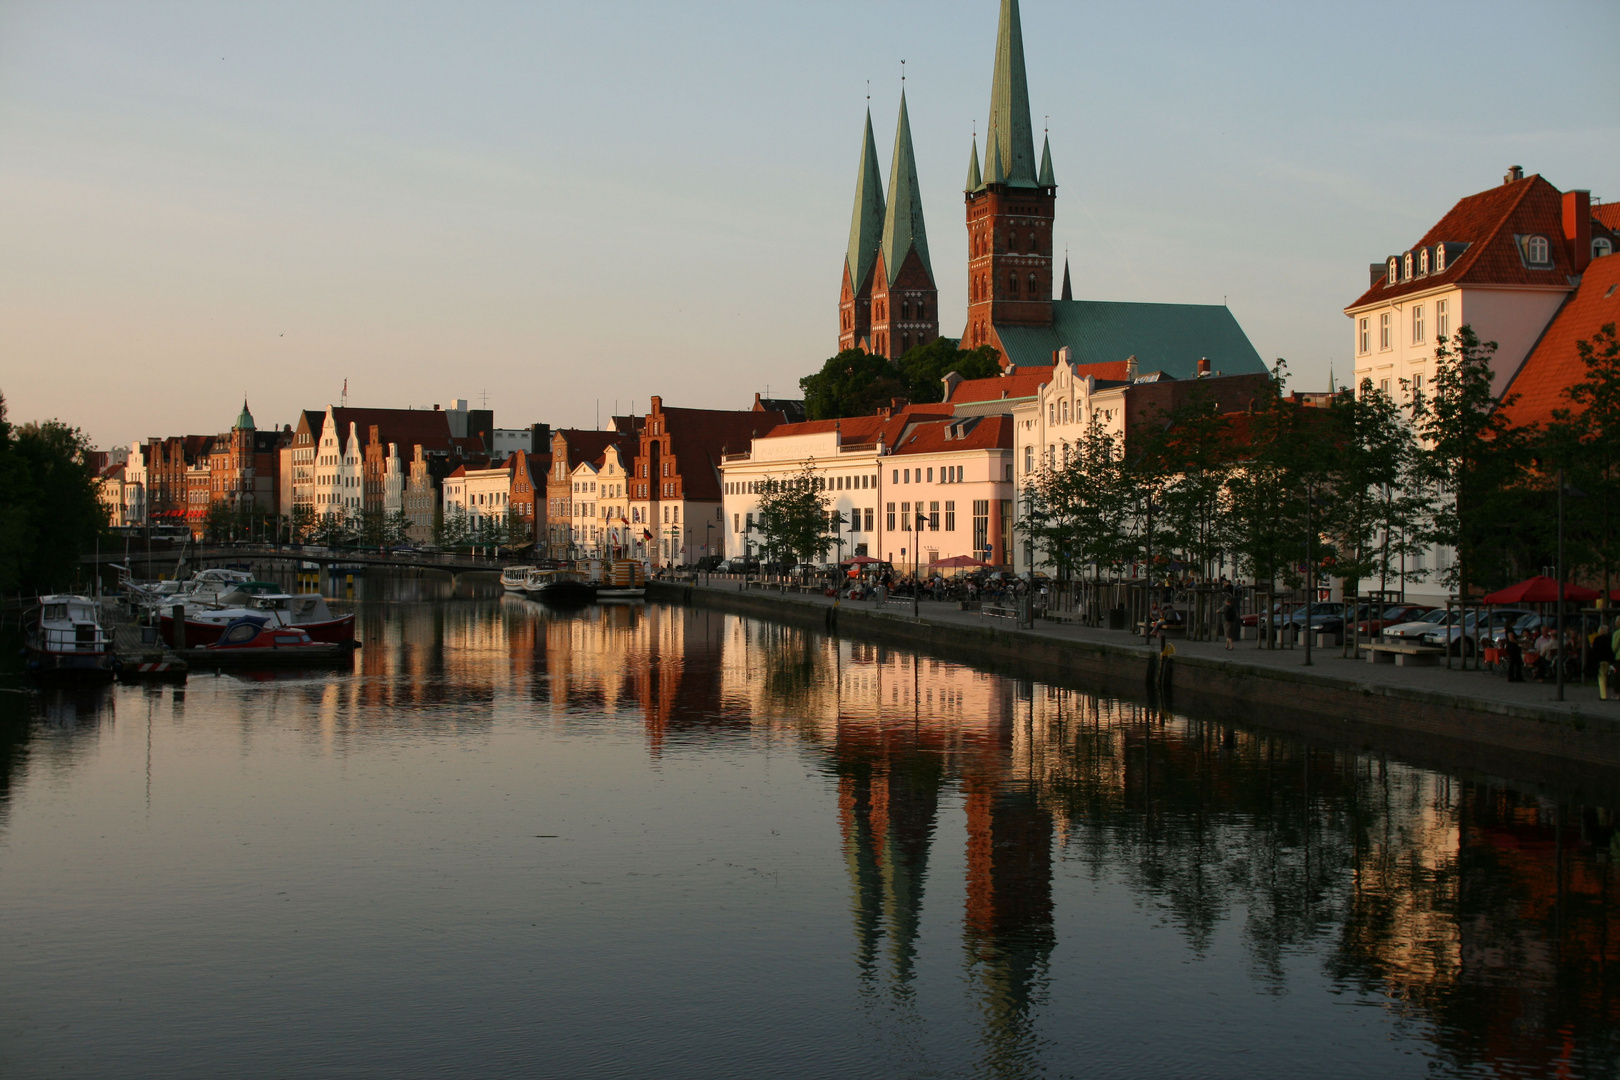
<path fill-rule="evenodd" d="M 854 753 L 846 753 L 854 750 Z M 944 767 L 915 746 L 839 745 L 838 810 L 854 891 L 855 957 L 870 973 L 885 934 L 894 981 L 912 980 L 928 845 Z"/>

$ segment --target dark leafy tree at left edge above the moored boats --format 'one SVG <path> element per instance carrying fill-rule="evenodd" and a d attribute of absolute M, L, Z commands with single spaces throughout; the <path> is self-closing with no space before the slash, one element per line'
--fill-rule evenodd
<path fill-rule="evenodd" d="M 13 427 L 0 395 L 0 591 L 70 586 L 107 528 L 78 427 L 50 419 Z"/>

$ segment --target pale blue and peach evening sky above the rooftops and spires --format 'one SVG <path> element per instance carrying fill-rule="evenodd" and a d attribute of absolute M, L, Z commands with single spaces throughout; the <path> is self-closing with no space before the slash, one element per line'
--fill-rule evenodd
<path fill-rule="evenodd" d="M 0 393 L 100 447 L 345 379 L 502 427 L 797 397 L 902 60 L 954 337 L 998 10 L 0 0 Z M 1076 296 L 1225 301 L 1294 389 L 1349 369 L 1367 264 L 1510 165 L 1620 199 L 1614 0 L 1021 11 Z"/>

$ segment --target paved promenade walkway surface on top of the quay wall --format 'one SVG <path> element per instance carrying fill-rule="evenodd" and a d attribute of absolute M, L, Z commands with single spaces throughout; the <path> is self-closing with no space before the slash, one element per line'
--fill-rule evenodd
<path fill-rule="evenodd" d="M 708 585 L 695 585 L 697 593 L 731 593 L 742 588 L 740 581 L 713 578 Z M 833 599 L 818 593 L 789 593 L 748 589 L 753 599 L 776 601 L 779 604 L 799 604 L 812 607 L 831 607 Z M 839 606 L 850 610 L 868 612 L 885 620 L 912 622 L 912 601 L 889 599 L 880 606 L 875 601 L 839 601 Z M 1145 646 L 1140 635 L 1119 630 L 1098 630 L 1071 623 L 1035 620 L 1032 630 L 1019 630 L 1013 619 L 985 615 L 982 612 L 964 612 L 954 602 L 922 601 L 919 604 L 920 622 L 935 627 L 959 627 L 967 630 L 993 628 L 1001 633 L 1029 635 L 1040 641 L 1072 641 L 1092 648 L 1103 648 L 1118 653 L 1121 661 L 1140 662 L 1149 654 L 1157 653 L 1155 646 Z M 969 635 L 964 635 L 969 636 Z M 1176 648 L 1176 662 L 1183 667 L 1209 667 L 1225 675 L 1241 675 L 1251 672 L 1267 678 L 1280 678 L 1294 683 L 1320 683 L 1335 690 L 1356 690 L 1361 693 L 1400 691 L 1413 699 L 1429 698 L 1435 704 L 1476 708 L 1487 712 L 1523 712 L 1523 714 L 1557 714 L 1565 717 L 1604 719 L 1609 724 L 1620 724 L 1620 701 L 1597 699 L 1594 682 L 1586 685 L 1571 683 L 1565 687 L 1565 701 L 1557 701 L 1557 687 L 1552 683 L 1510 683 L 1502 675 L 1476 670 L 1447 670 L 1443 659 L 1437 667 L 1396 667 L 1395 664 L 1369 664 L 1366 653 L 1361 659 L 1345 659 L 1340 646 L 1312 651 L 1312 665 L 1306 667 L 1304 646 L 1293 649 L 1262 649 L 1254 641 L 1239 641 L 1233 651 L 1226 651 L 1225 641 L 1184 641 L 1171 638 Z M 1090 649 L 1089 649 L 1090 651 Z M 1456 661 L 1453 661 L 1456 664 Z M 1196 678 L 1196 677 L 1194 677 Z"/>

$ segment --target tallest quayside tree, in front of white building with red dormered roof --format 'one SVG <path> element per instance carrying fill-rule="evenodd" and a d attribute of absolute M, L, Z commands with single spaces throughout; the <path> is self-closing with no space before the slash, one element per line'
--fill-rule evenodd
<path fill-rule="evenodd" d="M 1429 486 L 1435 508 L 1430 542 L 1456 551 L 1440 581 L 1468 597 L 1476 585 L 1507 576 L 1510 554 L 1523 541 L 1523 513 L 1533 427 L 1515 427 L 1492 389 L 1495 342 L 1473 327 L 1442 340 L 1434 353 L 1432 393 L 1413 397 L 1413 426 L 1422 437 L 1416 476 Z"/>

